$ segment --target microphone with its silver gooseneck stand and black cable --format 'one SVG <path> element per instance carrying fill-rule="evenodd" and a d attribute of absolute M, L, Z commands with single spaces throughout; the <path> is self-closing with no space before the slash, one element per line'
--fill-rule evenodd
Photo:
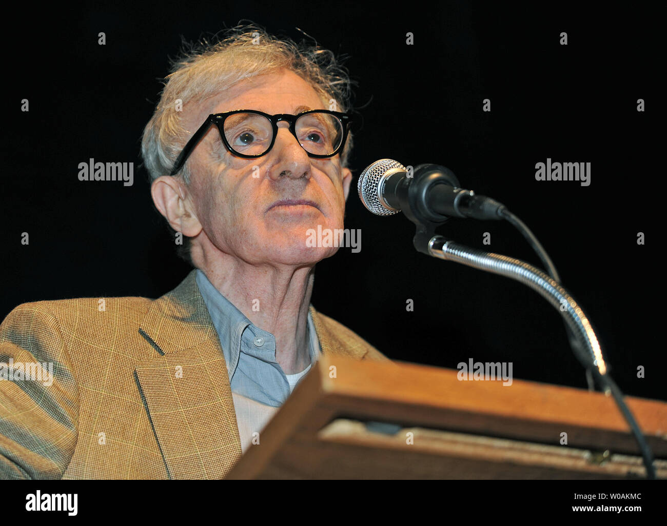
<path fill-rule="evenodd" d="M 460 189 L 454 173 L 445 167 L 420 165 L 414 169 L 414 179 L 406 179 L 405 170 L 403 165 L 392 159 L 382 159 L 367 167 L 360 175 L 358 183 L 364 206 L 378 215 L 393 215 L 403 211 L 417 227 L 413 243 L 418 251 L 514 279 L 551 303 L 564 319 L 574 354 L 584 368 L 592 373 L 604 393 L 614 397 L 616 405 L 628 422 L 642 453 L 646 477 L 655 479 L 653 453 L 624 402 L 623 393 L 609 375 L 610 367 L 602 355 L 598 337 L 583 309 L 560 285 L 556 267 L 530 229 L 501 203 Z M 388 187 L 391 187 L 392 191 L 386 192 Z M 462 211 L 466 212 L 465 215 Z M 444 224 L 449 216 L 506 219 L 521 231 L 551 275 L 520 259 L 472 249 L 442 235 L 436 235 L 436 227 Z"/>

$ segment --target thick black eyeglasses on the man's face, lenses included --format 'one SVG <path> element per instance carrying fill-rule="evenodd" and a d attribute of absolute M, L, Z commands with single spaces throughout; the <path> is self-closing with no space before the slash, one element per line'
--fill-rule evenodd
<path fill-rule="evenodd" d="M 175 175 L 183 167 L 187 157 L 213 124 L 217 126 L 225 147 L 233 155 L 254 159 L 273 148 L 280 121 L 289 123 L 289 131 L 310 157 L 325 159 L 338 154 L 345 145 L 352 117 L 348 113 L 325 109 L 311 109 L 297 115 L 269 115 L 254 109 L 211 113 L 187 141 L 169 175 Z"/>

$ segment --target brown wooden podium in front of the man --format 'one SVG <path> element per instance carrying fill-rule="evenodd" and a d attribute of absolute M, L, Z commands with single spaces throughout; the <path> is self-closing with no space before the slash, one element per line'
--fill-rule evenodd
<path fill-rule="evenodd" d="M 460 381 L 457 373 L 322 356 L 226 479 L 645 476 L 612 397 L 520 380 Z M 658 477 L 667 478 L 667 403 L 626 403 Z"/>

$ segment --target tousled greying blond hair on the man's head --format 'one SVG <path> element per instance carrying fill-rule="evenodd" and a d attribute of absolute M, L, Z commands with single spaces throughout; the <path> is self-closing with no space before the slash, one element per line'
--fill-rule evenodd
<path fill-rule="evenodd" d="M 276 69 L 297 73 L 313 86 L 327 107 L 333 100 L 337 111 L 348 111 L 353 81 L 340 59 L 316 43 L 299 45 L 250 24 L 225 31 L 215 43 L 202 39 L 196 44 L 184 44 L 181 57 L 172 61 L 155 113 L 143 130 L 141 156 L 151 183 L 171 173 L 176 157 L 195 132 L 184 129 L 178 104 L 182 107 L 199 103 L 239 81 Z M 348 165 L 351 149 L 352 133 L 341 153 L 343 167 Z M 175 177 L 190 184 L 187 162 Z M 179 256 L 192 264 L 189 238 L 184 237 L 183 243 L 177 245 Z"/>

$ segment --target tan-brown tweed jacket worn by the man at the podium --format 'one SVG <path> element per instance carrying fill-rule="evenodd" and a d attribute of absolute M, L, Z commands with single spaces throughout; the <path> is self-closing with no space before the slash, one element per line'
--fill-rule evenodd
<path fill-rule="evenodd" d="M 24 303 L 0 325 L 0 363 L 53 363 L 50 387 L 0 380 L 0 479 L 224 477 L 241 443 L 195 271 L 156 300 L 98 302 Z M 324 355 L 388 360 L 310 309 Z"/>

